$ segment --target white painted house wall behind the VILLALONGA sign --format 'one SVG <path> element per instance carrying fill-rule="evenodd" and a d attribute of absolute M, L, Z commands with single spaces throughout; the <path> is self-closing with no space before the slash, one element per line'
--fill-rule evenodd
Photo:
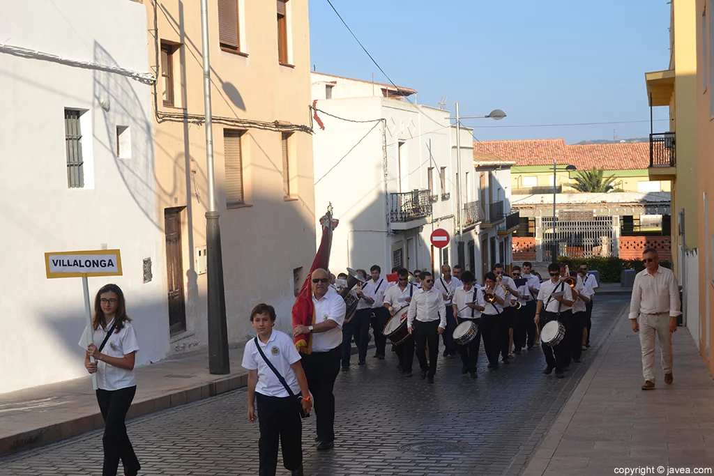
<path fill-rule="evenodd" d="M 4 2 L 3 41 L 147 73 L 146 6 L 132 1 Z M 114 282 L 126 294 L 141 350 L 169 343 L 163 240 L 154 216 L 149 86 L 124 76 L 0 54 L 0 393 L 86 375 L 80 278 L 48 280 L 44 253 L 121 249 L 124 275 L 90 278 L 92 298 Z M 100 103 L 109 99 L 109 111 Z M 85 188 L 67 186 L 64 108 L 86 109 Z M 116 126 L 131 130 L 131 158 L 116 158 Z M 142 260 L 154 279 L 142 283 Z M 34 355 L 41 355 L 36 358 Z"/>

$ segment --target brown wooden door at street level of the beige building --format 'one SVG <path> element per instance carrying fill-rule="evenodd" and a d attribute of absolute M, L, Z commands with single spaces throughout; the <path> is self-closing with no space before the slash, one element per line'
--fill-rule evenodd
<path fill-rule="evenodd" d="M 183 248 L 181 247 L 181 208 L 164 211 L 166 230 L 166 278 L 169 288 L 169 332 L 186 330 L 186 298 L 183 294 Z"/>

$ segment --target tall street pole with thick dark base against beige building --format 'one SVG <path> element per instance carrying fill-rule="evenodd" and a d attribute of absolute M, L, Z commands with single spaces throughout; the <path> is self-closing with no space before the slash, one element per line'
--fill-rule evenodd
<path fill-rule="evenodd" d="M 208 59 L 208 0 L 201 0 L 201 49 L 203 54 L 203 107 L 206 114 L 206 175 L 208 211 L 206 248 L 208 251 L 208 371 L 224 375 L 231 372 L 228 358 L 226 291 L 223 288 L 221 223 L 216 209 L 216 178 L 213 173 L 213 120 L 211 116 L 211 64 Z"/>

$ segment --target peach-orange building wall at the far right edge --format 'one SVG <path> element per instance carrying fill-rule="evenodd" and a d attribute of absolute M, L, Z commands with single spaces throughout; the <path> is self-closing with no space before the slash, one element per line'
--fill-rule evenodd
<path fill-rule="evenodd" d="M 699 210 L 697 213 L 699 240 L 702 245 L 698 249 L 700 275 L 697 280 L 698 315 L 700 319 L 700 353 L 709 365 L 709 371 L 714 375 L 714 362 L 710 354 L 710 343 L 714 339 L 714 289 L 710 283 L 714 279 L 714 211 L 710 208 L 709 198 L 714 196 L 714 1 L 697 0 L 695 11 L 697 58 L 696 91 L 697 91 L 697 170 Z"/>

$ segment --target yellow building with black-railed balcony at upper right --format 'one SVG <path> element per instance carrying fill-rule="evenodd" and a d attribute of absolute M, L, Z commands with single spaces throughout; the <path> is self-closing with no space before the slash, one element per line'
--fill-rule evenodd
<path fill-rule="evenodd" d="M 670 1 L 670 62 L 668 69 L 645 73 L 650 106 L 667 106 L 670 125 L 650 134 L 649 175 L 672 183 L 672 258 L 680 280 L 683 245 L 698 243 L 697 183 L 697 56 L 695 0 Z M 685 212 L 681 229 L 680 211 Z M 683 242 L 684 233 L 685 243 Z"/>

